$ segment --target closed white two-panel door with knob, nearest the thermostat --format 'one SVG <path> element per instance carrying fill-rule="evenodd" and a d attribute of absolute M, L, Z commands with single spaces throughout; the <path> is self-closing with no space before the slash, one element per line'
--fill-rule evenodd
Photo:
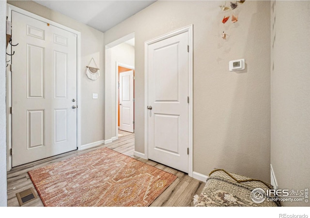
<path fill-rule="evenodd" d="M 188 172 L 188 32 L 148 46 L 148 158 Z"/>

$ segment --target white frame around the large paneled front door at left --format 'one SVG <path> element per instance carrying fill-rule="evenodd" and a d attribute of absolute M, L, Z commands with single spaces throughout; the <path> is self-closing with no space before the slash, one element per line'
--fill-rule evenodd
<path fill-rule="evenodd" d="M 39 21 L 49 23 L 55 27 L 63 29 L 65 31 L 69 31 L 77 34 L 77 148 L 78 150 L 81 147 L 81 33 L 79 31 L 73 30 L 69 27 L 63 26 L 62 24 L 56 23 L 47 18 L 35 15 L 29 11 L 23 10 L 11 4 L 7 4 L 7 16 L 8 21 L 12 21 L 12 11 L 16 11 L 20 14 L 30 16 L 31 18 L 37 19 Z M 11 58 L 10 58 L 11 60 Z M 14 71 L 14 65 L 13 65 Z M 10 149 L 12 148 L 12 114 L 10 113 L 10 107 L 12 107 L 12 68 L 11 70 L 7 70 L 7 88 L 6 88 L 6 99 L 7 99 L 7 107 L 6 107 L 6 116 L 7 116 L 7 171 L 12 169 L 12 155 Z"/>

